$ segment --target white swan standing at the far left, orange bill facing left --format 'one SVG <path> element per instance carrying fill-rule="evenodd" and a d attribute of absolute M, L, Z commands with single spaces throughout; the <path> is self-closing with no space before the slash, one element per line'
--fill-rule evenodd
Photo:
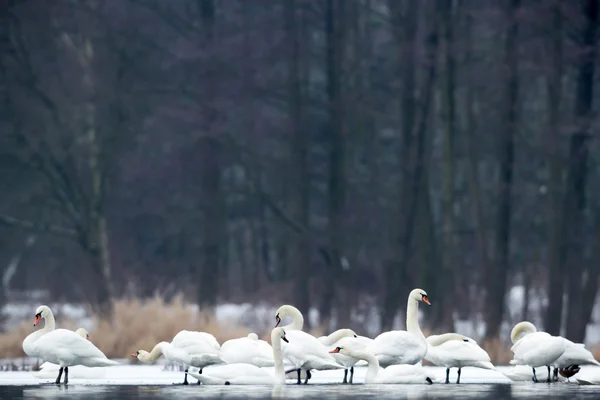
<path fill-rule="evenodd" d="M 43 317 L 43 313 L 40 313 L 38 316 L 36 311 L 37 322 Z M 28 347 L 34 357 L 60 366 L 58 377 L 55 381 L 56 384 L 60 384 L 63 371 L 65 373 L 64 383 L 65 385 L 69 383 L 70 366 L 108 367 L 119 364 L 116 361 L 106 358 L 104 353 L 94 346 L 92 342 L 67 329 L 55 329 L 48 332 L 32 344 L 28 344 Z"/>

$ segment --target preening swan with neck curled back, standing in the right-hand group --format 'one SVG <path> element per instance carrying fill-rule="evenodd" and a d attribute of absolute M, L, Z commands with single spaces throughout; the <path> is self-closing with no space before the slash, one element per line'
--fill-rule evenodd
<path fill-rule="evenodd" d="M 523 337 L 520 337 L 524 333 Z M 548 382 L 550 366 L 565 352 L 565 339 L 560 336 L 551 336 L 546 332 L 538 332 L 531 322 L 522 321 L 516 324 L 510 332 L 510 340 L 514 343 L 511 347 L 513 359 L 511 365 L 529 365 L 533 371 L 533 381 L 538 382 L 535 368 L 546 366 L 548 368 Z"/>

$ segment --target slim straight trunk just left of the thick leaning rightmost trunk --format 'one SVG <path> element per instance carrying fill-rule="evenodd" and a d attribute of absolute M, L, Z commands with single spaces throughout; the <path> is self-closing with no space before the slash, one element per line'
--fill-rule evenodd
<path fill-rule="evenodd" d="M 560 103 L 563 77 L 563 0 L 554 0 L 552 10 L 551 57 L 552 66 L 548 80 L 548 165 L 550 195 L 550 236 L 548 241 L 548 306 L 544 317 L 544 330 L 560 335 L 565 289 L 564 262 L 566 256 L 564 220 L 561 213 L 563 201 L 562 167 L 559 148 Z"/>

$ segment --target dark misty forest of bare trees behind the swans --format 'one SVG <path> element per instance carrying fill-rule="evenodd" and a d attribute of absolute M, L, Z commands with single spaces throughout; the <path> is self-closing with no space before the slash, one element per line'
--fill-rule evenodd
<path fill-rule="evenodd" d="M 584 338 L 598 0 L 0 4 L 0 304 L 371 299 L 389 329 L 418 286 L 494 338 L 523 285 Z"/>

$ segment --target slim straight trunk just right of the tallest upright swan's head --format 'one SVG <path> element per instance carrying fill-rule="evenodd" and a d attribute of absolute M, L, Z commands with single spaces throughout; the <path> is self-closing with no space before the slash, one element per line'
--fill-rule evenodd
<path fill-rule="evenodd" d="M 455 98 L 454 98 L 454 55 L 453 55 L 453 12 L 452 0 L 438 0 L 440 26 L 443 44 L 443 121 L 444 121 L 444 180 L 443 180 L 443 247 L 441 273 L 437 279 L 437 291 L 444 310 L 438 311 L 435 326 L 444 332 L 454 331 L 454 136 L 455 136 Z M 441 310 L 441 308 L 440 308 Z"/>

